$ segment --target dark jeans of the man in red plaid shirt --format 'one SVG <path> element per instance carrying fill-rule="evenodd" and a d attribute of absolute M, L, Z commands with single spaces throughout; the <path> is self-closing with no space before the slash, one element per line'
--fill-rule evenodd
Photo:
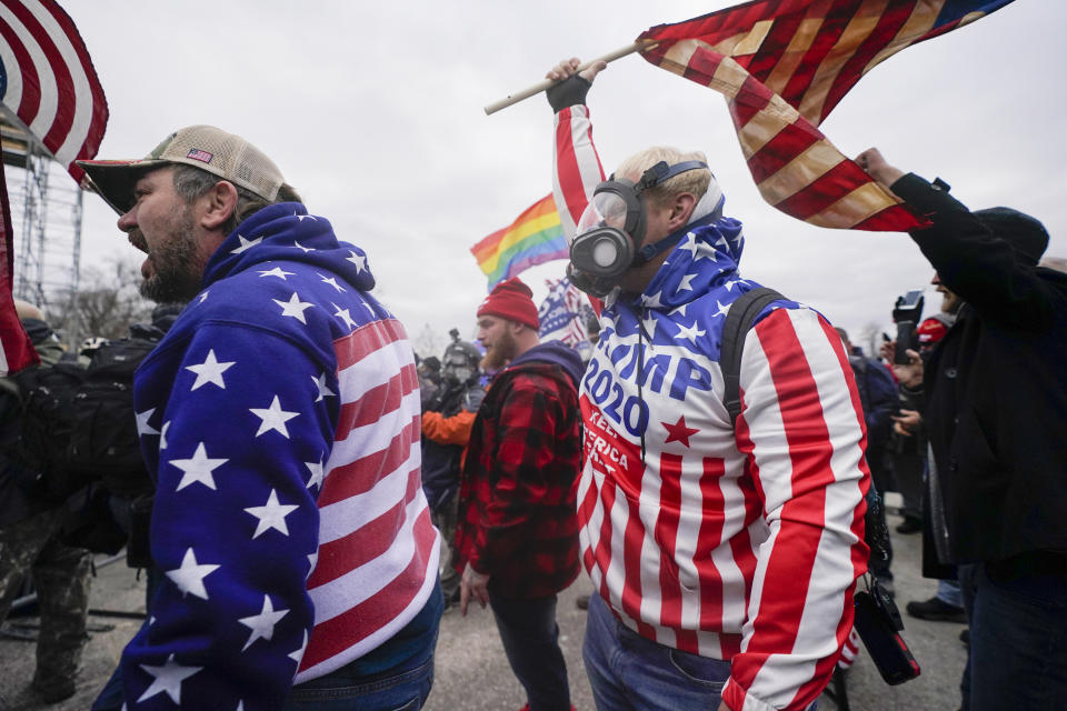
<path fill-rule="evenodd" d="M 511 671 L 526 689 L 530 711 L 569 711 L 570 688 L 559 649 L 556 595 L 518 600 L 490 591 L 489 604 Z"/>

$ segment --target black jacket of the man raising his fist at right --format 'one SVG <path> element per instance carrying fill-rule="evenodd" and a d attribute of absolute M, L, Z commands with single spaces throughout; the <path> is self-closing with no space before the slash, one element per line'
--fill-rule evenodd
<path fill-rule="evenodd" d="M 966 302 L 926 367 L 948 561 L 1067 551 L 1067 274 L 1030 266 L 946 190 L 893 191 L 933 222 L 911 239 Z"/>

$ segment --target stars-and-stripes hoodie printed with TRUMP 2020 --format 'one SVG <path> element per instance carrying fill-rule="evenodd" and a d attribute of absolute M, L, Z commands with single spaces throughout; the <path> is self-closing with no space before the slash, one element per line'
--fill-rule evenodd
<path fill-rule="evenodd" d="M 557 114 L 557 194 L 602 173 L 585 106 Z M 566 224 L 566 221 L 565 221 Z M 841 339 L 792 301 L 745 340 L 742 412 L 722 403 L 741 223 L 698 220 L 638 296 L 605 301 L 582 378 L 582 561 L 641 635 L 731 661 L 734 709 L 804 709 L 851 628 L 866 569 L 862 412 Z"/>

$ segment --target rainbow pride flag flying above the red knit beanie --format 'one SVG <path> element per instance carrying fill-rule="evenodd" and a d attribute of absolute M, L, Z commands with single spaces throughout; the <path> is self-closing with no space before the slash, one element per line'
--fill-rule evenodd
<path fill-rule="evenodd" d="M 535 264 L 567 259 L 570 252 L 552 196 L 531 204 L 515 222 L 471 247 L 470 253 L 489 278 L 489 291 Z"/>

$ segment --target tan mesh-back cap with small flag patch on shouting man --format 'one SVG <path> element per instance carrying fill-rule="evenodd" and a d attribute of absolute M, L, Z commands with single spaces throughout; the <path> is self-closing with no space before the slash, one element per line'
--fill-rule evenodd
<path fill-rule="evenodd" d="M 278 197 L 285 182 L 278 166 L 262 151 L 213 126 L 178 129 L 139 160 L 78 161 L 92 189 L 119 214 L 133 207 L 133 186 L 146 171 L 173 163 L 206 170 L 268 202 Z"/>

